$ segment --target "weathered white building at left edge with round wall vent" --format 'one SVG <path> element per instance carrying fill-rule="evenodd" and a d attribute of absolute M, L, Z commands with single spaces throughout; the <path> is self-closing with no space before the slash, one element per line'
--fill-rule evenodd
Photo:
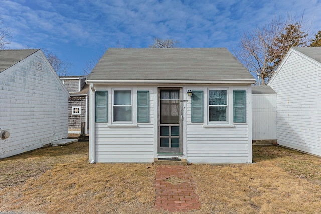
<path fill-rule="evenodd" d="M 0 158 L 67 138 L 68 98 L 40 49 L 0 50 Z"/>

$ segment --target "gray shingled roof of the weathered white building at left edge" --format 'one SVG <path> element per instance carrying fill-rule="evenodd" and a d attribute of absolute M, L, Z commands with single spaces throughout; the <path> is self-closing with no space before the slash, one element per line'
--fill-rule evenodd
<path fill-rule="evenodd" d="M 40 49 L 3 49 L 0 50 L 0 73 L 35 53 Z"/>

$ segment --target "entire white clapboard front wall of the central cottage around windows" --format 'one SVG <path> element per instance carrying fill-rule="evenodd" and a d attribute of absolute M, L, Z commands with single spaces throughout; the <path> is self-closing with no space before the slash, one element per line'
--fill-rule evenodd
<path fill-rule="evenodd" d="M 250 86 L 227 87 L 230 87 L 230 94 L 233 94 L 233 90 L 248 92 L 246 108 L 247 118 L 250 118 L 248 123 L 236 123 L 234 127 L 203 127 L 206 122 L 191 123 L 191 98 L 187 97 L 186 91 L 187 89 L 203 90 L 207 93 L 208 87 L 194 85 L 183 87 L 182 99 L 187 101 L 182 102 L 184 107 L 182 157 L 187 158 L 189 162 L 247 163 L 251 161 L 252 153 L 249 151 L 251 150 L 249 142 L 252 139 L 249 136 L 251 133 L 249 131 L 249 124 L 251 124 Z M 109 112 L 108 124 L 94 124 L 95 155 L 94 158 L 90 156 L 94 162 L 152 162 L 155 157 L 162 156 L 157 154 L 157 87 L 133 88 L 133 91 L 150 91 L 150 123 L 138 123 L 138 127 L 111 127 L 111 112 Z M 112 86 L 95 86 L 95 89 L 111 91 Z M 205 99 L 207 99 L 206 96 Z M 109 104 L 111 104 L 111 97 L 109 97 Z M 233 104 L 230 102 L 229 105 L 233 112 Z M 110 105 L 108 107 L 110 108 Z M 204 108 L 207 109 L 206 106 Z M 207 117 L 206 114 L 205 117 Z"/>

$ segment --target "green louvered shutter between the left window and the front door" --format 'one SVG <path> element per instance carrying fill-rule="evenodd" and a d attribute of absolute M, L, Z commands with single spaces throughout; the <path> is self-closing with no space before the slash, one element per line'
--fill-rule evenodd
<path fill-rule="evenodd" d="M 149 123 L 149 91 L 137 91 L 137 122 Z"/>

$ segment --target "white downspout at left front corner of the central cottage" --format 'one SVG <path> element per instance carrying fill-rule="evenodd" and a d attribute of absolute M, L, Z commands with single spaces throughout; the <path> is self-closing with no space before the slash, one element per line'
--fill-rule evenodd
<path fill-rule="evenodd" d="M 93 83 L 89 90 L 89 161 L 95 163 L 95 89 Z"/>

